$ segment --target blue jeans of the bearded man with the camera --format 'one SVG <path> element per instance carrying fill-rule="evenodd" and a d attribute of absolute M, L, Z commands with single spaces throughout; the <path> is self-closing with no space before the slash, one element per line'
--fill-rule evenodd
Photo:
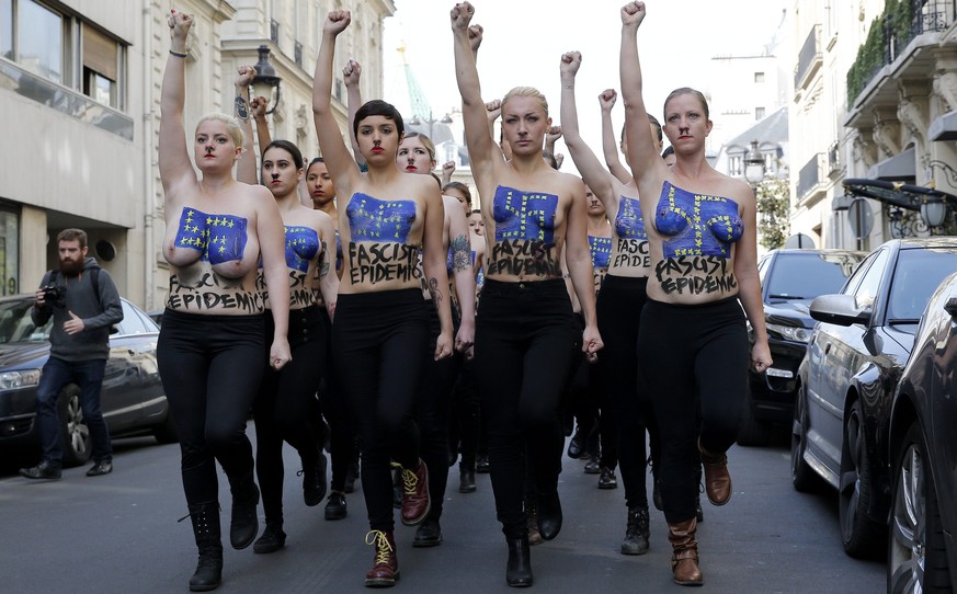
<path fill-rule="evenodd" d="M 36 390 L 36 422 L 43 445 L 43 459 L 53 466 L 61 466 L 64 458 L 60 419 L 57 414 L 57 397 L 70 381 L 80 387 L 80 405 L 83 421 L 93 441 L 93 460 L 112 461 L 110 430 L 100 412 L 100 388 L 103 386 L 103 372 L 106 359 L 64 361 L 49 357 L 43 366 L 43 375 Z"/>

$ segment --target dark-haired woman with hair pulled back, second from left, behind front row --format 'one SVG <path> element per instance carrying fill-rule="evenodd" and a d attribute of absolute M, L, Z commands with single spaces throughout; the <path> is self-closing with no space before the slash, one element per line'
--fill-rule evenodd
<path fill-rule="evenodd" d="M 250 66 L 239 68 L 236 111 L 243 133 L 251 139 L 252 125 L 246 102 L 255 76 Z M 242 117 L 247 114 L 247 117 Z M 251 141 L 250 141 L 251 145 Z M 251 146 L 250 146 L 251 148 Z M 255 158 L 250 150 L 237 171 L 242 182 L 257 182 Z M 316 390 L 326 373 L 329 315 L 335 309 L 339 277 L 330 271 L 330 248 L 335 241 L 332 220 L 299 202 L 303 155 L 287 140 L 273 140 L 262 150 L 262 183 L 280 207 L 285 228 L 285 255 L 289 283 L 289 344 L 293 361 L 281 372 L 265 370 L 252 405 L 255 420 L 255 469 L 262 490 L 265 529 L 253 545 L 259 553 L 274 552 L 286 541 L 283 532 L 283 442 L 299 454 L 306 505 L 326 496 L 324 424 L 316 408 Z M 318 295 L 329 315 L 323 316 Z M 266 309 L 271 301 L 266 295 Z M 270 317 L 264 318 L 266 335 Z"/>

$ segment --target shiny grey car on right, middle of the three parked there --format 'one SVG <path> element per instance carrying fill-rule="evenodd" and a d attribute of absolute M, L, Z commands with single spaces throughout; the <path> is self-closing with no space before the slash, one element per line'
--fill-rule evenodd
<path fill-rule="evenodd" d="M 838 295 L 811 302 L 814 328 L 798 370 L 791 479 L 838 489 L 841 539 L 852 557 L 882 548 L 890 511 L 890 407 L 934 289 L 957 271 L 957 238 L 888 241 Z"/>

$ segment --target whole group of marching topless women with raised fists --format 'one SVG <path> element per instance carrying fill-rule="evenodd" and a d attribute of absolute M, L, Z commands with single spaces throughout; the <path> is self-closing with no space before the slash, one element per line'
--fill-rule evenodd
<path fill-rule="evenodd" d="M 191 591 L 221 583 L 217 461 L 232 495 L 229 537 L 237 549 L 254 541 L 258 552 L 271 552 L 284 545 L 284 442 L 301 460 L 307 505 L 326 495 L 326 425 L 316 399 L 323 378 L 339 498 L 330 495 L 332 517 L 344 515 L 355 435 L 366 542 L 374 548 L 365 584 L 394 585 L 396 476 L 401 522 L 418 526 L 414 545 L 442 541 L 449 399 L 466 353 L 510 586 L 533 583 L 529 501 L 533 533 L 550 540 L 561 529 L 565 370 L 582 357 L 593 364 L 603 416 L 615 421 L 605 449 L 616 456 L 625 484 L 622 552 L 648 550 L 647 423 L 657 427 L 652 449 L 674 581 L 703 583 L 696 471 L 704 466 L 711 503 L 727 503 L 725 452 L 736 438 L 747 369 L 771 364 L 755 202 L 745 183 L 705 160 L 711 122 L 697 91 L 677 89 L 667 99 L 662 127 L 676 160 L 669 165 L 661 158 L 641 96 L 637 38 L 645 14 L 643 2 L 620 11 L 622 147 L 630 170 L 620 163 L 606 170 L 582 142 L 574 106 L 581 55 L 561 57 L 562 133 L 582 180 L 543 159 L 551 118 L 537 90 L 519 87 L 494 105 L 483 102 L 476 69 L 482 28 L 471 24 L 471 4 L 453 8 L 456 80 L 481 198 L 467 220 L 468 206 L 459 205 L 467 204 L 467 189 L 443 192 L 435 176 L 409 174 L 431 173 L 434 146 L 406 134 L 389 103 L 351 107 L 350 153 L 331 104 L 333 50 L 350 24 L 346 11 L 329 13 L 316 66 L 312 110 L 322 159 L 306 165 L 294 144 L 271 140 L 257 126 L 257 163 L 250 114 L 262 105 L 247 94 L 254 71 L 240 67 L 237 117 L 210 114 L 196 126 L 197 176 L 183 125 L 193 21 L 172 11 L 159 138 L 170 294 L 158 352 L 198 548 Z M 348 85 L 357 89 L 357 76 L 350 61 Z M 602 98 L 604 108 L 614 92 Z M 501 117 L 499 142 L 492 112 Z M 317 208 L 303 205 L 300 185 Z M 485 227 L 481 245 L 469 226 Z M 483 264 L 477 309 L 476 252 Z M 603 258 L 595 262 L 596 255 Z M 596 264 L 607 269 L 597 299 Z M 745 318 L 755 339 L 750 354 Z M 250 410 L 255 455 L 246 435 Z M 257 540 L 260 498 L 265 528 Z"/>

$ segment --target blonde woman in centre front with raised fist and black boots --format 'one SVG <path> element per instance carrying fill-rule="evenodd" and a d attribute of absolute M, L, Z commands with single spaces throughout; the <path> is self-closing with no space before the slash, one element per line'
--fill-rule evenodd
<path fill-rule="evenodd" d="M 539 533 L 549 540 L 558 535 L 562 519 L 558 475 L 563 432 L 558 409 L 563 370 L 571 367 L 579 340 L 590 357 L 596 356 L 602 341 L 595 325 L 584 184 L 542 158 L 551 119 L 545 98 L 535 89 L 519 87 L 502 99 L 502 134 L 511 160 L 495 145 L 470 41 L 478 35 L 478 27 L 469 26 L 474 12 L 468 2 L 456 4 L 451 24 L 465 137 L 489 245 L 476 319 L 476 365 L 495 510 L 509 548 L 505 581 L 528 586 L 533 575 L 524 507 L 525 454 L 538 494 Z M 581 339 L 562 278 L 562 252 L 584 315 Z"/>

